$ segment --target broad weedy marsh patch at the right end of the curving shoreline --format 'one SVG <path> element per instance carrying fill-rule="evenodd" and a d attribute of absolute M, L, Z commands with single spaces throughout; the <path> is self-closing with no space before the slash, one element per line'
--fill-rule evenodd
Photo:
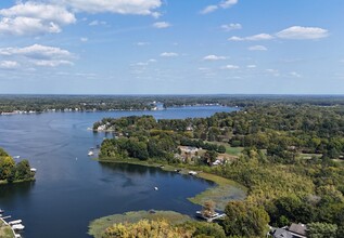
<path fill-rule="evenodd" d="M 211 173 L 199 173 L 198 176 L 216 183 L 216 186 L 189 198 L 193 203 L 203 206 L 205 201 L 213 200 L 217 210 L 225 211 L 229 200 L 243 200 L 246 197 L 246 188 L 231 180 Z"/>

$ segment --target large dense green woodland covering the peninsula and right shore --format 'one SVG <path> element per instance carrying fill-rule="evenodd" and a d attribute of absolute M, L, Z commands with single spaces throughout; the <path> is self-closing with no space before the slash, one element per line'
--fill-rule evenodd
<path fill-rule="evenodd" d="M 304 223 L 309 237 L 344 237 L 344 107 L 340 104 L 263 102 L 209 118 L 105 118 L 93 128 L 103 125 L 115 135 L 102 144 L 103 160 L 188 163 L 180 160 L 179 146 L 205 149 L 193 166 L 249 188 L 244 201 L 231 201 L 226 208 L 221 226 L 227 236 L 262 237 L 267 223 L 276 227 Z M 224 145 L 244 149 L 237 159 L 211 167 Z"/>

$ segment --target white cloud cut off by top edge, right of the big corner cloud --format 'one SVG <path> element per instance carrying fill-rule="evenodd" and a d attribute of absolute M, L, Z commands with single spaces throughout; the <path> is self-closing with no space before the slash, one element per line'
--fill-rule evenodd
<path fill-rule="evenodd" d="M 156 10 L 162 5 L 161 0 L 50 0 L 56 4 L 67 5 L 78 12 L 116 13 L 151 15 L 158 17 Z"/>

